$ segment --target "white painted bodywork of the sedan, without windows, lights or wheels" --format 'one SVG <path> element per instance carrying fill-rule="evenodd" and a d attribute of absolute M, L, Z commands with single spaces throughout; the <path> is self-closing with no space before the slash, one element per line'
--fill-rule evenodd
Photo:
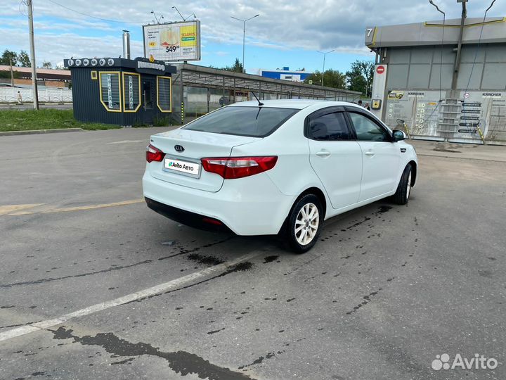
<path fill-rule="evenodd" d="M 257 101 L 247 101 L 228 107 L 259 106 Z M 297 197 L 307 189 L 323 193 L 326 220 L 393 195 L 410 162 L 415 165 L 413 175 L 417 177 L 417 156 L 405 141 L 316 141 L 304 136 L 306 118 L 330 107 L 366 112 L 391 134 L 391 129 L 375 115 L 353 103 L 280 100 L 264 101 L 262 107 L 299 111 L 264 138 L 179 128 L 153 135 L 150 144 L 171 158 L 195 163 L 208 157 L 277 156 L 271 170 L 223 179 L 202 167 L 200 177 L 190 177 L 162 170 L 163 161 L 151 162 L 143 176 L 145 198 L 215 218 L 236 234 L 278 234 Z M 185 151 L 176 152 L 176 144 L 184 146 Z"/>

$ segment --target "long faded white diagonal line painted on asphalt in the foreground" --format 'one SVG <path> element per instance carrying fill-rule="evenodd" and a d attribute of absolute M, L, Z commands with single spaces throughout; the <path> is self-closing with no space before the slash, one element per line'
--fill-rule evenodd
<path fill-rule="evenodd" d="M 0 333 L 0 342 L 7 341 L 8 339 L 15 338 L 17 336 L 22 336 L 26 334 L 30 334 L 35 331 L 41 331 L 44 329 L 48 329 L 49 327 L 56 326 L 57 324 L 62 324 L 67 322 L 70 319 L 84 317 L 85 315 L 90 315 L 95 312 L 99 312 L 102 310 L 115 308 L 119 305 L 124 305 L 125 303 L 129 303 L 134 300 L 138 300 L 144 297 L 153 296 L 158 293 L 163 293 L 164 291 L 168 291 L 170 289 L 174 289 L 182 284 L 185 284 L 190 281 L 195 281 L 196 279 L 200 279 L 214 272 L 221 272 L 226 270 L 228 267 L 239 264 L 245 260 L 251 260 L 257 255 L 260 255 L 262 252 L 253 252 L 247 255 L 243 255 L 240 258 L 235 260 L 231 260 L 228 262 L 223 262 L 222 264 L 215 265 L 214 267 L 209 267 L 204 270 L 200 270 L 198 272 L 194 272 L 191 274 L 187 274 L 186 276 L 179 277 L 179 279 L 173 279 L 168 282 L 164 282 L 163 284 L 158 284 L 152 286 L 148 289 L 143 289 L 141 291 L 136 291 L 135 293 L 127 294 L 126 296 L 122 296 L 119 298 L 115 298 L 114 300 L 105 301 L 102 303 L 97 303 L 96 305 L 91 305 L 88 308 L 76 310 L 74 312 L 70 312 L 65 315 L 61 315 L 60 317 L 56 317 L 53 319 L 46 319 L 45 321 L 28 324 L 27 326 L 16 327 L 15 329 L 11 329 L 8 331 L 4 331 Z"/>

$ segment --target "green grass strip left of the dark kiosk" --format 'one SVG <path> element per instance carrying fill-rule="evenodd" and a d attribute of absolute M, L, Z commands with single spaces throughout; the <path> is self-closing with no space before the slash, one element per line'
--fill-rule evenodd
<path fill-rule="evenodd" d="M 121 128 L 100 122 L 81 122 L 74 119 L 72 110 L 0 110 L 0 132 L 34 129 L 82 128 L 103 130 Z"/>

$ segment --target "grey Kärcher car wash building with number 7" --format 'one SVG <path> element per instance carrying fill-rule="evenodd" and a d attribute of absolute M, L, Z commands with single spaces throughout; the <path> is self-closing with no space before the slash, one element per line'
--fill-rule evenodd
<path fill-rule="evenodd" d="M 506 18 L 368 27 L 373 112 L 414 138 L 504 144 Z"/>

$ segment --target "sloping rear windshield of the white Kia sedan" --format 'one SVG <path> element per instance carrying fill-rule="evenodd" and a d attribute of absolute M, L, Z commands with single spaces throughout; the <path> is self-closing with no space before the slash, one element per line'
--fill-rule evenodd
<path fill-rule="evenodd" d="M 266 137 L 299 110 L 272 107 L 224 107 L 183 127 L 190 131 Z"/>

